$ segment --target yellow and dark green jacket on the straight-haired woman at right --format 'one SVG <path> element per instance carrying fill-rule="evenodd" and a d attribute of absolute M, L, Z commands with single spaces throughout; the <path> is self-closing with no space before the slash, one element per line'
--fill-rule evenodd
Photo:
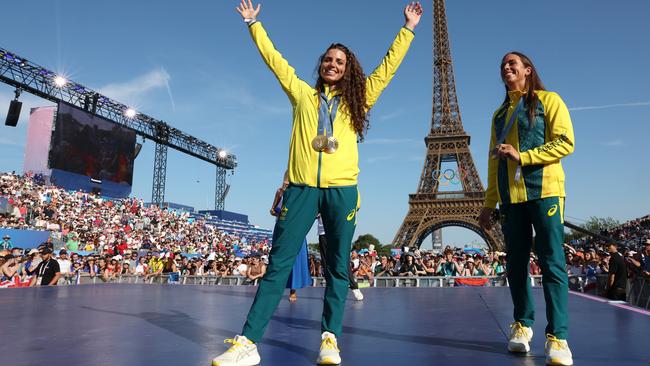
<path fill-rule="evenodd" d="M 571 154 L 575 145 L 569 110 L 556 93 L 535 93 L 539 103 L 534 123 L 529 124 L 527 108 L 522 108 L 505 140 L 519 151 L 521 178 L 515 181 L 516 162 L 489 158 L 486 207 L 495 208 L 497 202 L 511 204 L 566 196 L 560 159 Z M 510 100 L 494 113 L 490 151 L 496 144 L 496 131 L 507 124 L 523 95 L 520 91 L 508 92 Z"/>

